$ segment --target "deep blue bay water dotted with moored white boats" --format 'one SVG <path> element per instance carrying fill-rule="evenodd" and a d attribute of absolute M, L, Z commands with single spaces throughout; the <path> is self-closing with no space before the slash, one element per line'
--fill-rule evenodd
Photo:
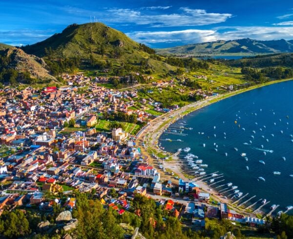
<path fill-rule="evenodd" d="M 161 139 L 181 139 L 183 142 L 160 142 L 169 152 L 190 147 L 189 153 L 209 164 L 207 174 L 215 171 L 224 174 L 225 181 L 217 185 L 232 182 L 243 195 L 249 193 L 244 200 L 256 195 L 250 203 L 261 198 L 267 199 L 271 203 L 263 208 L 264 211 L 269 210 L 272 204 L 280 204 L 276 212 L 284 211 L 286 206 L 293 205 L 293 178 L 289 176 L 293 174 L 293 142 L 290 137 L 293 134 L 292 92 L 293 81 L 285 81 L 221 100 L 179 120 L 186 121 L 187 127 L 193 128 L 184 130 L 188 136 L 161 136 Z M 204 135 L 198 132 L 204 132 Z M 214 142 L 218 145 L 218 152 L 214 150 Z M 245 142 L 248 144 L 243 144 Z M 203 143 L 206 147 L 203 147 Z M 264 150 L 268 150 L 266 155 L 260 150 L 261 145 Z M 234 147 L 238 148 L 237 152 Z M 225 153 L 228 153 L 227 157 Z M 247 154 L 248 161 L 241 153 Z M 265 161 L 265 165 L 259 160 Z M 246 166 L 249 166 L 249 171 Z M 273 175 L 273 171 L 279 171 L 281 175 Z M 258 177 L 266 181 L 257 180 Z"/>

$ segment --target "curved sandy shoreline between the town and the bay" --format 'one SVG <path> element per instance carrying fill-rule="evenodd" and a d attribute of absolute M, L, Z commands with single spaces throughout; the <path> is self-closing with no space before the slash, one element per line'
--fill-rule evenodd
<path fill-rule="evenodd" d="M 245 89 L 241 89 L 241 90 L 237 90 L 237 91 L 233 91 L 233 92 L 228 92 L 228 93 L 224 93 L 224 94 L 219 94 L 217 96 L 209 97 L 208 99 L 205 99 L 205 100 L 200 100 L 200 101 L 190 103 L 182 108 L 179 108 L 178 110 L 174 110 L 170 113 L 167 113 L 165 115 L 162 115 L 160 117 L 153 119 L 143 129 L 141 129 L 136 135 L 137 140 L 138 141 L 142 140 L 144 143 L 144 144 L 142 144 L 142 143 L 138 142 L 138 144 L 145 145 L 144 147 L 142 146 L 142 154 L 144 156 L 147 156 L 149 159 L 149 162 L 151 164 L 153 164 L 153 166 L 155 166 L 156 169 L 161 173 L 161 178 L 166 178 L 166 179 L 172 180 L 174 177 L 167 175 L 163 170 L 161 170 L 158 167 L 158 164 L 160 163 L 160 161 L 161 161 L 160 159 L 162 159 L 162 157 L 157 158 L 157 157 L 153 157 L 151 155 L 151 154 L 154 154 L 154 155 L 166 154 L 166 153 L 164 153 L 164 151 L 160 147 L 158 147 L 157 143 L 158 143 L 158 139 L 161 137 L 164 130 L 167 127 L 169 127 L 169 125 L 171 125 L 172 123 L 176 122 L 177 120 L 183 118 L 184 116 L 188 115 L 189 113 L 192 113 L 192 112 L 194 112 L 198 109 L 201 109 L 203 107 L 209 106 L 212 103 L 215 103 L 220 100 L 224 100 L 224 99 L 230 98 L 232 96 L 235 96 L 235 95 L 247 92 L 247 91 L 251 91 L 251 90 L 254 90 L 257 88 L 261 88 L 264 86 L 268 86 L 271 84 L 276 84 L 276 83 L 280 83 L 280 82 L 284 82 L 284 81 L 289 81 L 289 80 L 293 80 L 293 79 L 272 80 L 272 81 L 268 81 L 268 82 L 265 82 L 262 84 L 253 85 L 253 86 L 245 88 Z M 179 158 L 174 157 L 172 152 L 167 152 L 167 155 L 169 157 L 173 157 L 174 159 L 166 160 L 164 163 L 164 167 L 168 171 L 174 172 L 177 176 L 179 176 L 180 178 L 182 178 L 184 180 L 192 180 L 192 179 L 190 179 L 190 176 L 188 176 L 188 173 L 185 173 L 182 170 L 181 165 L 178 164 Z M 203 191 L 209 192 L 213 199 L 216 199 L 217 201 L 220 201 L 220 202 L 227 203 L 230 206 L 230 208 L 232 208 L 233 210 L 238 211 L 242 214 L 256 216 L 256 215 L 252 214 L 251 212 L 246 211 L 245 209 L 238 208 L 235 205 L 231 205 L 231 203 L 232 203 L 231 199 L 222 198 L 223 196 L 222 195 L 219 196 L 218 195 L 219 193 L 217 192 L 217 190 L 214 190 L 212 187 L 210 187 L 204 181 L 196 180 L 194 177 L 193 177 L 193 179 L 199 185 L 199 187 L 202 188 Z M 173 179 L 173 181 L 176 183 L 176 181 L 174 179 Z"/>

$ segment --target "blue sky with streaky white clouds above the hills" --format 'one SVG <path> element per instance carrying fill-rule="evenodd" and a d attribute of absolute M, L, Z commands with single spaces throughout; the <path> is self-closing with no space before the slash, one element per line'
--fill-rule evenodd
<path fill-rule="evenodd" d="M 32 44 L 96 20 L 151 47 L 293 40 L 292 0 L 0 0 L 0 42 Z"/>

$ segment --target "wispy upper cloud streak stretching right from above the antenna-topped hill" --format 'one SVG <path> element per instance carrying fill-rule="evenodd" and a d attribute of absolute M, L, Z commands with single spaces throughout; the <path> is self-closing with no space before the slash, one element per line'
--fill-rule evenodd
<path fill-rule="evenodd" d="M 153 27 L 200 26 L 225 22 L 231 18 L 230 13 L 208 13 L 203 9 L 182 7 L 176 13 L 154 14 L 149 11 L 128 8 L 107 8 L 103 11 L 90 11 L 74 7 L 65 7 L 64 11 L 78 16 L 95 16 L 105 23 L 133 23 Z"/>

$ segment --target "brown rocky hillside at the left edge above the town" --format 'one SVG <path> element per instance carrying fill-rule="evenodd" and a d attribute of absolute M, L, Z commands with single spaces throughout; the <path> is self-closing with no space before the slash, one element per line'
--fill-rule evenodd
<path fill-rule="evenodd" d="M 28 72 L 31 78 L 48 81 L 56 80 L 49 74 L 44 60 L 28 55 L 19 48 L 0 43 L 0 57 L 3 61 L 0 64 L 0 71 L 13 69 L 18 73 Z"/>

